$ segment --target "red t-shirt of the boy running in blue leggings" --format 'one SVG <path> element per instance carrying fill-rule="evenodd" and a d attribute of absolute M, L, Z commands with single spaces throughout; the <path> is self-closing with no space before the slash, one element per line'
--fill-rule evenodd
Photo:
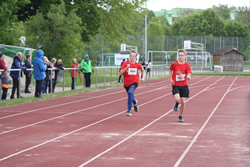
<path fill-rule="evenodd" d="M 132 83 L 139 83 L 139 73 L 138 70 L 142 70 L 141 64 L 135 62 L 131 64 L 129 61 L 125 61 L 122 63 L 121 70 L 126 68 L 127 64 L 130 64 L 130 67 L 123 73 L 124 83 L 123 85 L 128 87 Z"/>

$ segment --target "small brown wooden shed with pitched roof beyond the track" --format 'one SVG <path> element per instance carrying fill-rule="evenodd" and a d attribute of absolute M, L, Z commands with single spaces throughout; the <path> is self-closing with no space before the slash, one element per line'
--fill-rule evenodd
<path fill-rule="evenodd" d="M 236 49 L 220 49 L 212 53 L 213 66 L 223 66 L 223 71 L 243 71 L 244 53 Z"/>

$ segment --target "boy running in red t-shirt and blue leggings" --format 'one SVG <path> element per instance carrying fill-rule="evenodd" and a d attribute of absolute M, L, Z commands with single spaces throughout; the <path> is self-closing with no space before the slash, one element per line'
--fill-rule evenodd
<path fill-rule="evenodd" d="M 134 91 L 138 86 L 139 82 L 139 73 L 138 70 L 141 70 L 142 81 L 144 81 L 144 69 L 141 64 L 137 63 L 135 60 L 137 58 L 137 51 L 132 49 L 129 54 L 129 61 L 125 61 L 122 63 L 120 75 L 123 75 L 124 83 L 123 86 L 128 93 L 128 111 L 126 113 L 127 116 L 132 116 L 131 108 L 132 103 L 134 104 L 135 112 L 139 111 L 138 101 L 134 97 Z"/>

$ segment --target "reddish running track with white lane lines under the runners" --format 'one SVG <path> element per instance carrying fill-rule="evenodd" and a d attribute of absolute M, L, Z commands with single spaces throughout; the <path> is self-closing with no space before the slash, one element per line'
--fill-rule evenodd
<path fill-rule="evenodd" d="M 250 77 L 194 76 L 184 123 L 168 78 L 0 108 L 1 167 L 250 166 Z"/>

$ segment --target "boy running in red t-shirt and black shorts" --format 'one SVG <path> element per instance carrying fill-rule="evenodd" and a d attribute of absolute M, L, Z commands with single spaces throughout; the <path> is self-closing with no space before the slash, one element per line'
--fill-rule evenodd
<path fill-rule="evenodd" d="M 172 93 L 175 99 L 174 111 L 178 111 L 181 103 L 179 122 L 184 122 L 182 114 L 185 108 L 186 99 L 189 97 L 187 80 L 191 79 L 191 67 L 185 61 L 187 53 L 184 49 L 178 50 L 178 60 L 173 62 L 169 68 L 169 77 L 172 85 Z"/>

